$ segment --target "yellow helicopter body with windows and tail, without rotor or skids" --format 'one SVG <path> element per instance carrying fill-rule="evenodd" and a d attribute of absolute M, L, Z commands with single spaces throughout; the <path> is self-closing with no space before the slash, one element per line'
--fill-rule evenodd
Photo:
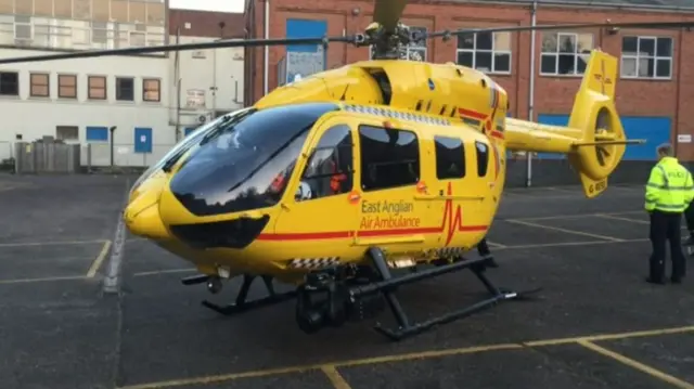
<path fill-rule="evenodd" d="M 507 119 L 505 91 L 454 64 L 319 73 L 180 142 L 133 185 L 125 219 L 210 275 L 300 283 L 370 247 L 395 268 L 455 257 L 490 228 L 506 148 L 568 154 L 587 196 L 605 190 L 625 148 L 603 82 L 615 72 L 591 54 L 569 127 Z"/>

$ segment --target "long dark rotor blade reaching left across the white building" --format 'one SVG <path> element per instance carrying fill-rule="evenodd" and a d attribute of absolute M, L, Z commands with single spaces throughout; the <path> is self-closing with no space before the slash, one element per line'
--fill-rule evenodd
<path fill-rule="evenodd" d="M 288 46 L 288 44 L 324 44 L 327 42 L 348 42 L 354 40 L 350 37 L 334 37 L 334 38 L 282 38 L 282 39 L 243 39 L 243 40 L 216 40 L 211 42 L 197 42 L 197 43 L 182 43 L 182 44 L 163 44 L 163 46 L 149 46 L 141 48 L 125 48 L 125 49 L 112 49 L 112 50 L 87 50 L 77 51 L 72 53 L 60 54 L 44 54 L 44 55 L 31 55 L 14 59 L 2 59 L 0 64 L 14 64 L 18 62 L 40 62 L 40 61 L 55 61 L 55 60 L 69 60 L 69 59 L 87 59 L 93 56 L 107 56 L 107 55 L 132 55 L 132 54 L 147 54 L 147 53 L 160 53 L 168 51 L 183 51 L 183 50 L 205 50 L 205 49 L 220 49 L 220 48 L 254 48 L 264 46 Z"/>

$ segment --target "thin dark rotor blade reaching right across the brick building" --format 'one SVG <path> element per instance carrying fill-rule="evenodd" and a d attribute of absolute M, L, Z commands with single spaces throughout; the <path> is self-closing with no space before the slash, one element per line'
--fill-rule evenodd
<path fill-rule="evenodd" d="M 514 33 L 514 31 L 532 31 L 532 30 L 570 30 L 581 28 L 684 28 L 694 27 L 694 22 L 641 22 L 641 23 L 584 23 L 584 24 L 550 24 L 538 26 L 506 26 L 506 27 L 489 27 L 489 28 L 463 28 L 453 31 L 437 31 L 424 34 L 425 38 L 446 37 L 446 36 L 460 36 L 475 33 Z"/>

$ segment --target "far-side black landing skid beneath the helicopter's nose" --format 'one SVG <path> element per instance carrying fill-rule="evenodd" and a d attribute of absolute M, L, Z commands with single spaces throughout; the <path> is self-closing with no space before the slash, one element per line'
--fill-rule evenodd
<path fill-rule="evenodd" d="M 275 303 L 287 301 L 296 297 L 296 290 L 292 290 L 283 294 L 275 293 L 274 286 L 272 285 L 272 277 L 262 276 L 262 282 L 266 288 L 268 289 L 269 296 L 248 301 L 247 300 L 248 290 L 250 289 L 250 285 L 253 285 L 253 282 L 255 280 L 256 280 L 256 276 L 254 275 L 247 275 L 247 274 L 243 275 L 243 283 L 241 284 L 241 288 L 239 289 L 239 294 L 236 295 L 235 302 L 232 302 L 226 306 L 219 306 L 214 302 L 204 300 L 202 304 L 203 307 L 209 308 L 219 314 L 230 316 L 230 315 L 243 313 L 253 309 L 273 306 Z M 207 287 L 211 293 L 218 293 L 219 289 L 221 289 L 221 286 L 215 285 L 216 283 L 219 283 L 219 280 L 211 276 L 203 275 L 203 276 L 193 276 L 193 277 L 182 280 L 183 285 L 191 285 L 191 284 L 197 284 L 203 282 L 207 282 Z"/>

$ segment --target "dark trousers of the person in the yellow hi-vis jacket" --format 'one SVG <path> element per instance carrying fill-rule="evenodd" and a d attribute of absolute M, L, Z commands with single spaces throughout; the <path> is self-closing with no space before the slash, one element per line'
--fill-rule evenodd
<path fill-rule="evenodd" d="M 682 213 L 653 211 L 651 212 L 651 274 L 654 282 L 665 278 L 666 242 L 670 243 L 670 259 L 672 260 L 672 281 L 681 280 L 686 273 L 684 254 L 682 252 L 682 238 L 680 228 Z"/>

